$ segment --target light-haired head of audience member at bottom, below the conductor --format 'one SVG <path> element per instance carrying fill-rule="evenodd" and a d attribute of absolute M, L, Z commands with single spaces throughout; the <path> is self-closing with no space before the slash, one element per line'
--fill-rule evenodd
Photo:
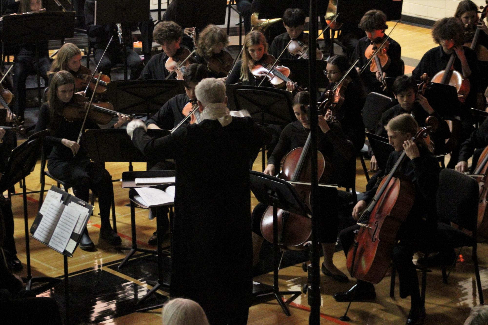
<path fill-rule="evenodd" d="M 209 325 L 202 307 L 190 299 L 175 298 L 164 304 L 163 325 Z"/>

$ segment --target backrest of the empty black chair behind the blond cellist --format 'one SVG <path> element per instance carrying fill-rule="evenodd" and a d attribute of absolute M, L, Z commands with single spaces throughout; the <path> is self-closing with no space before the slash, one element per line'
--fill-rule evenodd
<path fill-rule="evenodd" d="M 473 231 L 477 225 L 478 196 L 478 183 L 472 177 L 452 169 L 443 169 L 437 190 L 439 220 L 451 221 Z"/>

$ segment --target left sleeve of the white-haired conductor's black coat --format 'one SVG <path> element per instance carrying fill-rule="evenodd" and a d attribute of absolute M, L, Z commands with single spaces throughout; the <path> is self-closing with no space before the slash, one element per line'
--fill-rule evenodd
<path fill-rule="evenodd" d="M 149 159 L 175 158 L 176 145 L 174 138 L 186 133 L 186 128 L 180 128 L 173 134 L 161 138 L 150 137 L 143 128 L 136 128 L 132 143 Z"/>

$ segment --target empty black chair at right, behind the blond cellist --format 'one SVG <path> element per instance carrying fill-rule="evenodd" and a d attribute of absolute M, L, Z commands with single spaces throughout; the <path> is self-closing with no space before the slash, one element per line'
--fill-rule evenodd
<path fill-rule="evenodd" d="M 478 183 L 471 177 L 456 172 L 451 169 L 443 169 L 439 175 L 439 188 L 437 190 L 437 216 L 439 222 L 437 231 L 432 238 L 432 242 L 427 249 L 423 251 L 426 256 L 432 252 L 446 251 L 450 249 L 461 248 L 464 246 L 472 247 L 471 259 L 474 264 L 474 274 L 476 276 L 476 285 L 480 304 L 484 304 L 483 291 L 481 287 L 480 271 L 478 268 L 477 257 L 477 236 L 476 227 L 478 221 Z M 446 222 L 452 222 L 459 225 L 461 229 L 472 232 L 468 235 L 466 232 L 451 227 Z M 427 259 L 425 259 L 427 260 Z M 422 300 L 425 303 L 425 292 L 427 282 L 427 266 L 422 269 Z M 447 284 L 446 267 L 442 266 L 442 280 Z M 395 272 L 392 270 L 390 296 L 393 297 L 395 286 Z"/>

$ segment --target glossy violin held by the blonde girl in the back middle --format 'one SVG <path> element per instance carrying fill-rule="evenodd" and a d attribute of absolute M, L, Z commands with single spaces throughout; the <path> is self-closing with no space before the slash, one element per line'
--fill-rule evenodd
<path fill-rule="evenodd" d="M 293 82 L 288 78 L 291 72 L 289 68 L 282 65 L 275 65 L 272 67 L 275 60 L 275 57 L 270 54 L 264 55 L 261 60 L 250 63 L 249 70 L 256 78 L 263 78 L 266 76 L 273 87 L 282 88 L 286 86 L 287 81 Z M 293 84 L 295 84 L 299 91 L 304 91 L 304 89 L 299 87 L 295 82 L 293 82 Z"/>

